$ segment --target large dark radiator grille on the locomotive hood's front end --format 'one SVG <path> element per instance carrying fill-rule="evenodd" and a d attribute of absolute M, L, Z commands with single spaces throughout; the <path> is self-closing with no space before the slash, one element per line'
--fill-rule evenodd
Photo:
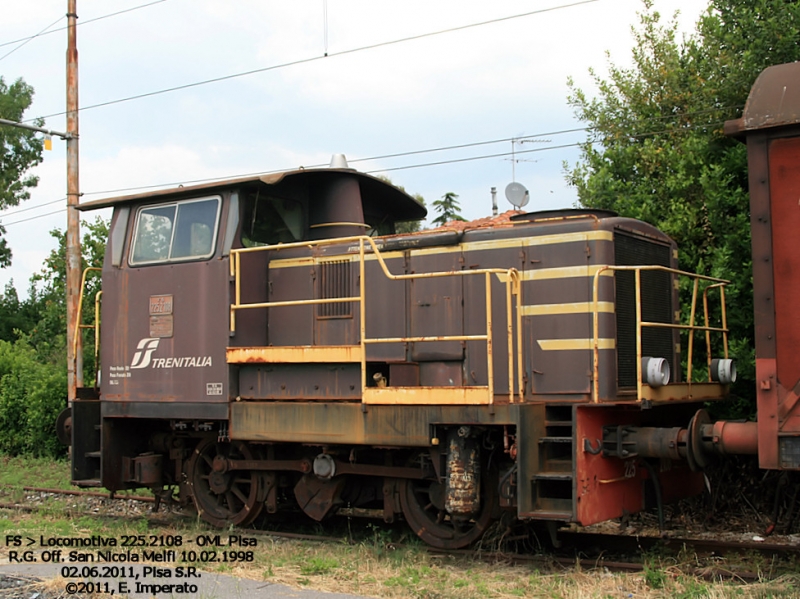
<path fill-rule="evenodd" d="M 670 263 L 670 246 L 633 237 L 620 231 L 614 235 L 617 266 L 657 265 Z M 618 271 L 616 277 L 617 311 L 617 383 L 620 387 L 636 386 L 636 275 Z M 642 320 L 672 323 L 672 279 L 667 272 L 642 271 Z M 675 368 L 674 331 L 644 327 L 642 355 L 665 358 L 670 370 Z"/>

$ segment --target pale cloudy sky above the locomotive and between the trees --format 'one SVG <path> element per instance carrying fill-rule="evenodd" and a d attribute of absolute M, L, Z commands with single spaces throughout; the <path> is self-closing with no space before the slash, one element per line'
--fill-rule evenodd
<path fill-rule="evenodd" d="M 640 0 L 77 5 L 84 201 L 127 193 L 115 190 L 326 164 L 344 153 L 351 166 L 389 176 L 429 204 L 459 194 L 468 219 L 491 213 L 491 187 L 500 209 L 510 208 L 503 190 L 512 173 L 530 191 L 529 209 L 574 204 L 562 165 L 577 160 L 574 144 L 585 134 L 556 133 L 581 126 L 566 102 L 567 79 L 591 95 L 588 69 L 603 74 L 606 52 L 627 64 L 631 26 L 643 7 Z M 655 0 L 664 16 L 680 11 L 685 33 L 704 6 Z M 0 44 L 66 24 L 67 0 L 4 0 L 3 8 Z M 65 130 L 66 31 L 18 45 L 0 45 L 0 75 L 35 88 L 26 116 L 53 115 L 46 127 Z M 249 71 L 259 72 L 116 102 Z M 91 108 L 105 102 L 114 103 Z M 484 143 L 548 133 L 515 146 L 538 151 L 518 154 L 513 171 L 510 156 L 494 156 L 511 152 L 511 141 Z M 467 147 L 423 152 L 452 146 Z M 410 152 L 419 153 L 361 160 Z M 66 225 L 65 158 L 65 144 L 54 139 L 34 171 L 40 184 L 32 199 L 0 212 L 14 252 L 12 266 L 0 269 L 0 285 L 13 278 L 24 294 L 54 247 L 48 231 Z"/>

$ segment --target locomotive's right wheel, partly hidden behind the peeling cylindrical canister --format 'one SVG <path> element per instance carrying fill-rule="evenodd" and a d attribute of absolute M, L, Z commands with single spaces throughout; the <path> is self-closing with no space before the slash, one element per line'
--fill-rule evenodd
<path fill-rule="evenodd" d="M 431 480 L 403 479 L 400 507 L 417 536 L 438 549 L 461 549 L 477 541 L 492 523 L 497 505 L 493 477 L 483 473 L 481 509 L 473 518 L 454 518 L 444 509 L 444 485 Z"/>

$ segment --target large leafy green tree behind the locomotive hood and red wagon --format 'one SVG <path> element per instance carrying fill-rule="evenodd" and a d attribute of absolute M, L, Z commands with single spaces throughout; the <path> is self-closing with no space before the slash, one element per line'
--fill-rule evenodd
<path fill-rule="evenodd" d="M 729 279 L 736 391 L 753 409 L 754 348 L 745 147 L 722 133 L 767 66 L 800 58 L 800 3 L 711 0 L 696 33 L 677 39 L 644 0 L 631 67 L 592 71 L 597 96 L 570 82 L 569 103 L 590 135 L 567 167 L 583 206 L 650 222 L 681 249 L 681 268 Z M 688 304 L 683 290 L 683 305 Z M 698 340 L 700 341 L 700 340 Z"/>

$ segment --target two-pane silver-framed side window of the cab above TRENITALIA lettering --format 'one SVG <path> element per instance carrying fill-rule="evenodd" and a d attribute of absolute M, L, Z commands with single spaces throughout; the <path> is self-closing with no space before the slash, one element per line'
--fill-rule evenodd
<path fill-rule="evenodd" d="M 140 208 L 130 263 L 200 260 L 214 254 L 220 198 L 186 200 Z"/>

